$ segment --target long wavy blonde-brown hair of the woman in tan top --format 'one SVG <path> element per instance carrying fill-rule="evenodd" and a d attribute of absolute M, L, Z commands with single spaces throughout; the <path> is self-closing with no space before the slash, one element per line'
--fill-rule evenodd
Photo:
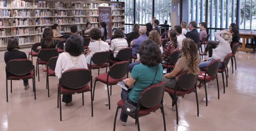
<path fill-rule="evenodd" d="M 199 54 L 197 50 L 197 45 L 194 40 L 190 38 L 185 38 L 182 41 L 182 58 L 186 59 L 186 64 L 188 66 L 188 73 L 198 74 L 199 73 Z"/>

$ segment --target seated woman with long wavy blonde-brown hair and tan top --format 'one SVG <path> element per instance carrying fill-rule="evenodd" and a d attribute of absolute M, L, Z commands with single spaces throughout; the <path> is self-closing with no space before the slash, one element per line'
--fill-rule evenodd
<path fill-rule="evenodd" d="M 182 56 L 177 61 L 174 69 L 170 73 L 166 73 L 163 77 L 163 81 L 166 82 L 166 88 L 175 89 L 176 78 L 181 72 L 188 71 L 188 73 L 198 74 L 199 68 L 198 64 L 200 62 L 198 50 L 196 48 L 196 43 L 190 39 L 186 38 L 182 42 Z M 193 86 L 193 85 L 191 85 Z M 179 89 L 177 89 L 179 90 Z M 180 89 L 180 90 L 188 90 L 188 89 Z M 169 93 L 172 98 L 172 110 L 175 111 L 175 106 L 178 98 L 175 95 Z"/>

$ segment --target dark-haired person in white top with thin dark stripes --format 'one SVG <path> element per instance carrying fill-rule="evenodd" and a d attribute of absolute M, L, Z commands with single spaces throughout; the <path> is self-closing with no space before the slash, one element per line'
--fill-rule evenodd
<path fill-rule="evenodd" d="M 111 47 L 109 50 L 113 52 L 113 56 L 111 59 L 116 61 L 116 55 L 118 54 L 119 50 L 128 47 L 127 40 L 124 38 L 124 32 L 121 29 L 116 29 L 114 33 L 114 39 L 111 40 Z"/>

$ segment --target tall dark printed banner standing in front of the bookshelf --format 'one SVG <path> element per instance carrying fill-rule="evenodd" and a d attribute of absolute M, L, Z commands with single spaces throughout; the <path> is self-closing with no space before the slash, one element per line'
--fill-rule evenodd
<path fill-rule="evenodd" d="M 109 6 L 98 6 L 99 9 L 99 23 L 106 22 L 108 30 L 108 38 L 111 38 L 112 34 L 112 23 L 111 23 L 111 7 Z"/>

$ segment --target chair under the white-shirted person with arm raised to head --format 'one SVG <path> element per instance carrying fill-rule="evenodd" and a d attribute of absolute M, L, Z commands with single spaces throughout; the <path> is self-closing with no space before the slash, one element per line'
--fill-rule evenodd
<path fill-rule="evenodd" d="M 227 56 L 225 56 L 224 60 L 221 61 L 221 63 L 222 63 L 222 68 L 219 68 L 219 69 L 218 69 L 218 73 L 221 73 L 221 75 L 222 75 L 223 93 L 225 93 L 225 82 L 224 82 L 224 74 L 223 74 L 223 72 L 225 72 L 225 75 L 226 75 L 226 82 L 227 82 L 227 87 L 228 87 L 228 77 L 227 77 L 227 72 L 226 72 L 226 70 L 228 71 L 227 66 L 228 66 L 228 63 L 229 63 L 229 60 L 230 60 L 231 56 L 232 56 L 232 53 L 227 54 Z"/>

